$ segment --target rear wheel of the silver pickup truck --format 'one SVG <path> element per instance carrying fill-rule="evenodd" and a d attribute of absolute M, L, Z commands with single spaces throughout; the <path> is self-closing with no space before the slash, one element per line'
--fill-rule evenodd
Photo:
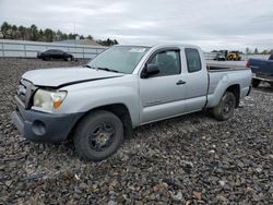
<path fill-rule="evenodd" d="M 213 116 L 219 121 L 233 118 L 236 99 L 232 92 L 226 92 L 219 100 L 219 104 L 213 108 Z"/>

